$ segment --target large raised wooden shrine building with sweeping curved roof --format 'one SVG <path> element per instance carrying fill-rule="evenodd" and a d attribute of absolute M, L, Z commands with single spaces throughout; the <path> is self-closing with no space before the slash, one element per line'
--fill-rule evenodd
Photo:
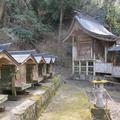
<path fill-rule="evenodd" d="M 72 42 L 72 73 L 83 77 L 104 73 L 108 49 L 116 38 L 97 20 L 77 12 L 63 39 Z"/>

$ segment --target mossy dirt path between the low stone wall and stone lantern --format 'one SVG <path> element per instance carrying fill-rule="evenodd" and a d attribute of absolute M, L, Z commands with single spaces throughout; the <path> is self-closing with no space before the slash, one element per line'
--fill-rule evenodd
<path fill-rule="evenodd" d="M 90 120 L 88 86 L 84 81 L 66 81 L 39 120 Z"/>

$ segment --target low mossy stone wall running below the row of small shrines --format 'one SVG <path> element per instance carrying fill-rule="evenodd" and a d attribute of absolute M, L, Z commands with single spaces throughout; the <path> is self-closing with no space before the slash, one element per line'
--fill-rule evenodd
<path fill-rule="evenodd" d="M 59 78 L 53 78 L 52 83 L 47 89 L 43 91 L 38 90 L 31 98 L 15 107 L 12 110 L 11 120 L 37 120 L 59 86 Z"/>

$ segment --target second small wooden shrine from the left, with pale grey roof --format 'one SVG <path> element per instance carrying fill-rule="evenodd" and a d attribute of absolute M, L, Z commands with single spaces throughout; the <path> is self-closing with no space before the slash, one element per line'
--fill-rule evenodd
<path fill-rule="evenodd" d="M 30 87 L 32 83 L 38 81 L 37 61 L 31 51 L 11 51 L 11 56 L 19 63 L 16 73 L 16 86 L 26 84 Z M 26 89 L 25 87 L 25 89 Z"/>

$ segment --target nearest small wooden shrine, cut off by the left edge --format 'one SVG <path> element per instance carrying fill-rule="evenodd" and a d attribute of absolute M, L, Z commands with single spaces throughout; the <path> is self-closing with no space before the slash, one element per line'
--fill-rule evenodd
<path fill-rule="evenodd" d="M 0 88 L 11 89 L 14 85 L 16 68 L 19 64 L 5 50 L 0 52 Z"/>

